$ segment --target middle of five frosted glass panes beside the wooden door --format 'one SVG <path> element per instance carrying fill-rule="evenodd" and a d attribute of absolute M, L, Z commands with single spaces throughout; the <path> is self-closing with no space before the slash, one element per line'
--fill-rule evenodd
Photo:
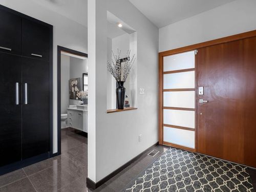
<path fill-rule="evenodd" d="M 163 93 L 163 106 L 195 108 L 195 91 L 173 91 Z"/>

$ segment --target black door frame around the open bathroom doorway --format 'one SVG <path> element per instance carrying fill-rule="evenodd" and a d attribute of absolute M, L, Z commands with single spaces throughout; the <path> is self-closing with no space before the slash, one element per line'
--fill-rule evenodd
<path fill-rule="evenodd" d="M 58 152 L 61 154 L 61 51 L 71 53 L 78 56 L 88 57 L 87 53 L 75 51 L 65 47 L 57 46 L 57 137 L 58 137 Z"/>

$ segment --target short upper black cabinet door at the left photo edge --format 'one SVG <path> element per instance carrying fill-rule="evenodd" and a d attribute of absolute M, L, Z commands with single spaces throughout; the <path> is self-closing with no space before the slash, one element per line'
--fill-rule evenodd
<path fill-rule="evenodd" d="M 22 18 L 0 9 L 0 51 L 21 54 Z"/>

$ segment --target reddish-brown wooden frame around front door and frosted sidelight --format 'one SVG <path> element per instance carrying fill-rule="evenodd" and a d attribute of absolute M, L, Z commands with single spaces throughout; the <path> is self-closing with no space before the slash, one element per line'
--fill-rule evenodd
<path fill-rule="evenodd" d="M 223 37 L 215 40 L 210 40 L 206 42 L 201 42 L 199 44 L 195 45 L 190 45 L 182 48 L 177 48 L 173 50 L 168 50 L 164 52 L 159 53 L 159 68 L 158 68 L 158 78 L 159 78 L 159 112 L 158 112 L 158 119 L 159 119 L 159 144 L 164 144 L 165 142 L 163 141 L 163 57 L 168 56 L 168 55 L 173 55 L 173 54 L 178 54 L 178 53 L 183 53 L 187 51 L 193 51 L 197 50 L 200 48 L 212 46 L 212 45 L 218 45 L 218 44 L 223 44 L 225 42 L 230 42 L 230 41 L 235 41 L 235 40 L 240 40 L 240 39 L 245 39 L 245 38 L 250 38 L 250 37 L 255 37 L 256 36 L 256 30 L 254 31 L 249 31 L 241 34 L 236 34 L 228 37 Z M 197 84 L 197 83 L 196 83 Z M 197 93 L 197 90 L 196 90 Z M 197 132 L 195 132 L 195 139 L 197 138 Z M 178 145 L 177 145 L 178 146 Z M 189 148 L 184 148 L 185 150 L 189 150 Z M 197 141 L 195 140 L 195 151 L 197 152 Z"/>

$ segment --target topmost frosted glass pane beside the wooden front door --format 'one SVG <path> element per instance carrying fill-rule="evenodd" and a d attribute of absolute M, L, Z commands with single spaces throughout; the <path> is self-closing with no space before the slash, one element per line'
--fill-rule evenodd
<path fill-rule="evenodd" d="M 163 71 L 195 68 L 195 51 L 163 57 Z"/>

